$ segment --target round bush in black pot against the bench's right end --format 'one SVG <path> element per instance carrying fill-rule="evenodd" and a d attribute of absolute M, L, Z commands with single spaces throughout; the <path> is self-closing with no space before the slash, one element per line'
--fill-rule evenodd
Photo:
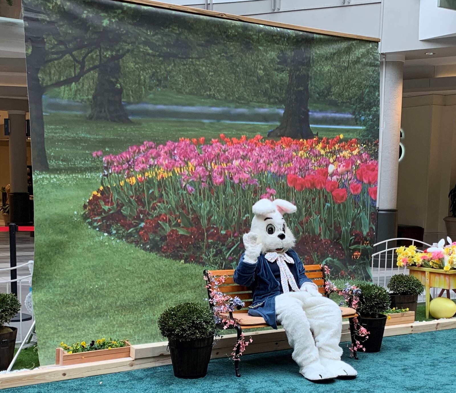
<path fill-rule="evenodd" d="M 361 296 L 357 311 L 361 315 L 361 324 L 369 332 L 368 338 L 360 337 L 366 352 L 378 352 L 382 346 L 386 315 L 391 300 L 388 291 L 375 284 L 361 284 Z"/>

